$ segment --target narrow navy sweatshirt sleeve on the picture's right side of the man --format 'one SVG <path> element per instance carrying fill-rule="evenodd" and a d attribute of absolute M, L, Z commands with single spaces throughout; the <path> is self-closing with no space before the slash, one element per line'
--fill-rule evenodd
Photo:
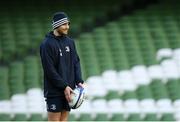
<path fill-rule="evenodd" d="M 76 51 L 76 46 L 75 46 L 75 43 L 73 42 L 73 46 L 74 46 L 74 72 L 75 72 L 75 80 L 76 80 L 76 83 L 84 83 L 83 79 L 82 79 L 82 74 L 81 74 L 81 65 L 80 65 L 80 59 L 79 59 L 79 56 L 77 54 L 77 51 Z"/>

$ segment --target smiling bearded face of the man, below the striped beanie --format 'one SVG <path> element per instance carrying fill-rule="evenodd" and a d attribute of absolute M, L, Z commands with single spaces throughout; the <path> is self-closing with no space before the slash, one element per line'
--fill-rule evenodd
<path fill-rule="evenodd" d="M 65 23 L 57 28 L 57 32 L 60 35 L 67 35 L 69 30 L 69 23 Z"/>

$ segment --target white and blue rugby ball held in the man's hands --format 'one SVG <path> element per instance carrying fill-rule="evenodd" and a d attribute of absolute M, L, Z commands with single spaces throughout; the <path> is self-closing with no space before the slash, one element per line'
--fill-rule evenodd
<path fill-rule="evenodd" d="M 71 102 L 69 106 L 72 109 L 79 108 L 85 99 L 85 90 L 82 87 L 76 87 L 71 94 Z"/>

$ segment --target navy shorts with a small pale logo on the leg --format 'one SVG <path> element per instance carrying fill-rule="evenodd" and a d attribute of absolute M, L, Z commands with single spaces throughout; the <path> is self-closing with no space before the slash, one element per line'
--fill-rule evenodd
<path fill-rule="evenodd" d="M 48 112 L 62 112 L 71 110 L 65 97 L 46 98 L 46 106 Z"/>

